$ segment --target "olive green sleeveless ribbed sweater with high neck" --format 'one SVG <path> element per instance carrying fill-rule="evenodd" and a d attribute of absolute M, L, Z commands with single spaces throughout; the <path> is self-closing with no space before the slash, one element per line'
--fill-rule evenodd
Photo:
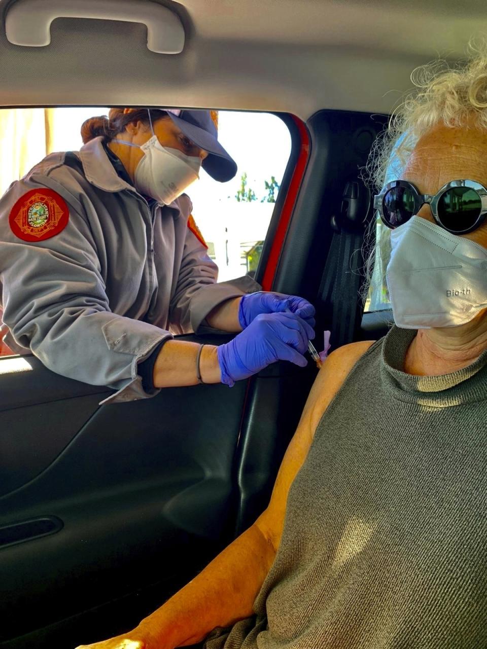
<path fill-rule="evenodd" d="M 403 373 L 413 330 L 356 363 L 290 493 L 255 615 L 206 649 L 487 647 L 487 351 Z"/>

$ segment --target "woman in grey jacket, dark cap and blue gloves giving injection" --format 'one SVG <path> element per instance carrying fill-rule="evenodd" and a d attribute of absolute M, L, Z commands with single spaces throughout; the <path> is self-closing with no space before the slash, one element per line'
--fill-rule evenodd
<path fill-rule="evenodd" d="M 168 386 L 232 386 L 277 360 L 306 365 L 314 308 L 218 268 L 183 193 L 200 168 L 236 164 L 209 110 L 118 108 L 82 125 L 79 152 L 53 153 L 0 201 L 5 343 L 56 373 L 151 397 Z M 226 345 L 173 339 L 201 324 Z"/>

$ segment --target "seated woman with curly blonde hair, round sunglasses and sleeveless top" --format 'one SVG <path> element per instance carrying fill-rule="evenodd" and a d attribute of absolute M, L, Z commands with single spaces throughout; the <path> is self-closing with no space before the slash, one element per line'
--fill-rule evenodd
<path fill-rule="evenodd" d="M 324 363 L 256 522 L 92 648 L 487 646 L 487 54 L 416 79 L 372 165 L 395 326 Z"/>

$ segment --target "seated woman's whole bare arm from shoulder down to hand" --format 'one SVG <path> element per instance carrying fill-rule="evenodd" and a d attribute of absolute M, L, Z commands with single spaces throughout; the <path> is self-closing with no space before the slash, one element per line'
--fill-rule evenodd
<path fill-rule="evenodd" d="M 282 460 L 269 505 L 256 522 L 136 629 L 77 649 L 175 649 L 201 642 L 215 627 L 231 626 L 252 615 L 281 543 L 290 486 L 306 459 L 316 426 L 371 344 L 345 345 L 324 361 Z"/>

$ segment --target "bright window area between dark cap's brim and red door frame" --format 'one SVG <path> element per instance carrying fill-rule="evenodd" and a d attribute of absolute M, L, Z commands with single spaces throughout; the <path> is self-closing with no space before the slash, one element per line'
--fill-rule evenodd
<path fill-rule="evenodd" d="M 231 111 L 219 112 L 218 137 L 238 165 L 236 176 L 220 183 L 203 171 L 188 194 L 223 282 L 255 272 L 291 153 L 291 137 L 275 115 Z"/>

